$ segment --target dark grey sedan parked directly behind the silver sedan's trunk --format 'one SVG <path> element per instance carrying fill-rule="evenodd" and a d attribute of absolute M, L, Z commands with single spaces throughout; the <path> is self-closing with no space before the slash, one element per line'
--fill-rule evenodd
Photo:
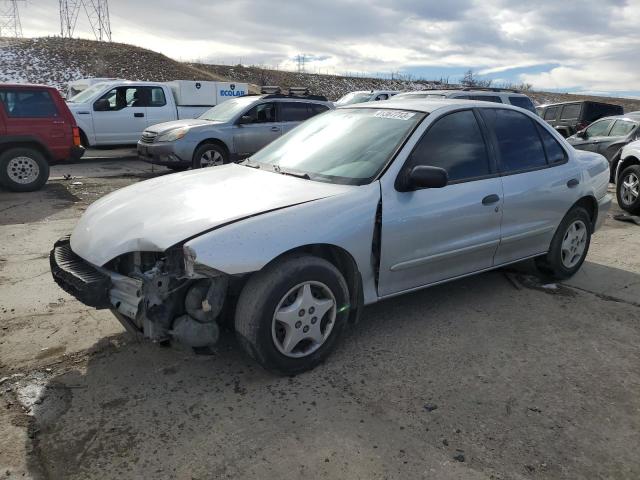
<path fill-rule="evenodd" d="M 628 143 L 640 139 L 639 126 L 640 114 L 605 117 L 570 136 L 567 141 L 578 150 L 604 155 L 609 161 L 611 181 L 614 181 L 622 148 Z"/>

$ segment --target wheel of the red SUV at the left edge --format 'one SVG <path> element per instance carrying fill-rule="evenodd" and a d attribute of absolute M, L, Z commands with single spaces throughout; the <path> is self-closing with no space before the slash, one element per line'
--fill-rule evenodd
<path fill-rule="evenodd" d="M 14 192 L 32 192 L 49 179 L 49 163 L 37 150 L 12 148 L 0 155 L 0 184 Z"/>

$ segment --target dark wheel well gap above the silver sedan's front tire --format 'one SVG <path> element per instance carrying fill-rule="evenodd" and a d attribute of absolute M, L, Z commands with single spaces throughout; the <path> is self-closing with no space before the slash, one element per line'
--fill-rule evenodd
<path fill-rule="evenodd" d="M 323 258 L 332 263 L 340 271 L 349 288 L 349 302 L 351 304 L 349 321 L 356 322 L 360 317 L 364 306 L 364 292 L 362 289 L 362 276 L 360 275 L 358 265 L 351 254 L 344 248 L 336 245 L 324 243 L 304 245 L 282 253 L 269 263 L 273 263 L 283 256 L 290 255 L 292 253 L 306 253 L 308 255 Z"/>

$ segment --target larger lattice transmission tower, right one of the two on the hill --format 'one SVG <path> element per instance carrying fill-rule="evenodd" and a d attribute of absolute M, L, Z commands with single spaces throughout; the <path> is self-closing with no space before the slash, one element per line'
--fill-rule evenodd
<path fill-rule="evenodd" d="M 111 41 L 111 21 L 108 0 L 58 0 L 60 2 L 60 35 L 71 38 L 84 10 L 96 40 Z"/>

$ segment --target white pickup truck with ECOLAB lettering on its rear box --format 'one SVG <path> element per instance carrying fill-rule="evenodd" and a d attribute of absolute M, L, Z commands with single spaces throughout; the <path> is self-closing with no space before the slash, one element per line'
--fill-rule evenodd
<path fill-rule="evenodd" d="M 218 103 L 247 93 L 246 83 L 114 80 L 87 88 L 67 104 L 85 147 L 126 145 L 136 143 L 151 125 L 197 118 Z"/>

